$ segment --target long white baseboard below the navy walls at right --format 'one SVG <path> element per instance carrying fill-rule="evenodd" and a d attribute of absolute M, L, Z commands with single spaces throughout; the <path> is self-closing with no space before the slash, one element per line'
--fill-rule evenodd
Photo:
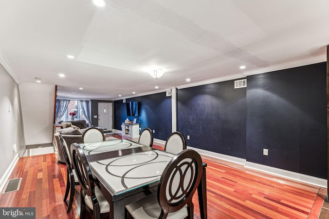
<path fill-rule="evenodd" d="M 203 150 L 203 149 L 193 148 L 193 147 L 189 147 L 189 146 L 187 148 L 193 149 L 193 150 L 197 151 L 199 154 L 203 154 L 206 156 L 217 158 L 219 160 L 243 165 L 245 168 L 248 168 L 248 169 L 253 169 L 253 170 L 269 173 L 272 175 L 277 175 L 277 176 L 280 176 L 283 178 L 288 178 L 290 180 L 295 180 L 298 182 L 308 183 L 311 185 L 327 188 L 327 180 L 324 180 L 323 178 L 318 178 L 318 177 L 314 177 L 314 176 L 310 176 L 310 175 L 305 175 L 302 173 L 296 173 L 293 171 L 288 171 L 288 170 L 283 170 L 283 169 L 279 169 L 279 168 L 275 168 L 275 167 L 269 167 L 266 165 L 247 162 L 245 159 L 242 159 L 242 158 L 229 156 L 229 155 L 225 155 L 225 154 L 220 154 L 220 153 L 207 151 L 207 150 Z"/>

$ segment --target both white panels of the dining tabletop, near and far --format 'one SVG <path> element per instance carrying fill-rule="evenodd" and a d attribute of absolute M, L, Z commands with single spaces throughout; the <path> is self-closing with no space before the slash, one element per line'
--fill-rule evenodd
<path fill-rule="evenodd" d="M 79 145 L 86 155 L 145 147 L 125 139 Z M 173 156 L 174 154 L 153 149 L 121 156 L 117 153 L 116 157 L 105 157 L 89 162 L 89 165 L 115 194 L 120 194 L 159 181 Z"/>

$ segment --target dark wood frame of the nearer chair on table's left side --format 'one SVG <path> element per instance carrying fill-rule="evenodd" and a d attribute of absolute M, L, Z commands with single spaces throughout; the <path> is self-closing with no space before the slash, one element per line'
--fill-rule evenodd
<path fill-rule="evenodd" d="M 77 144 L 72 144 L 70 153 L 72 157 L 72 164 L 76 170 L 81 187 L 80 218 L 84 219 L 86 217 L 86 211 L 88 211 L 93 218 L 108 218 L 108 212 L 102 214 L 100 213 L 100 206 L 95 195 L 94 177 L 82 148 Z M 86 195 L 89 195 L 92 199 L 93 209 L 86 206 L 84 201 Z"/>

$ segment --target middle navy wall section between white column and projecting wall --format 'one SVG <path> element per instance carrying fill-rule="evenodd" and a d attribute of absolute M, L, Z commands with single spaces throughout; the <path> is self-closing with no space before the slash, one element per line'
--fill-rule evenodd
<path fill-rule="evenodd" d="M 245 158 L 246 88 L 226 81 L 178 89 L 177 127 L 189 146 Z"/>

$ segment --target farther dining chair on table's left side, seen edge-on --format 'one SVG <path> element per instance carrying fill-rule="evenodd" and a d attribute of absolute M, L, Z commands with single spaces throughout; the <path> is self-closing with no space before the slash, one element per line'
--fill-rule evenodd
<path fill-rule="evenodd" d="M 76 171 L 72 167 L 71 163 L 71 156 L 70 152 L 68 150 L 68 147 L 66 145 L 66 142 L 61 134 L 58 134 L 59 137 L 59 143 L 61 150 L 63 151 L 65 163 L 66 163 L 66 169 L 67 169 L 67 176 L 66 176 L 66 190 L 64 195 L 64 202 L 67 204 L 67 211 L 66 213 L 69 213 L 72 208 L 73 200 L 74 200 L 74 194 L 75 194 L 75 186 L 80 185 Z M 68 193 L 70 193 L 69 201 L 67 203 L 67 197 Z"/>

